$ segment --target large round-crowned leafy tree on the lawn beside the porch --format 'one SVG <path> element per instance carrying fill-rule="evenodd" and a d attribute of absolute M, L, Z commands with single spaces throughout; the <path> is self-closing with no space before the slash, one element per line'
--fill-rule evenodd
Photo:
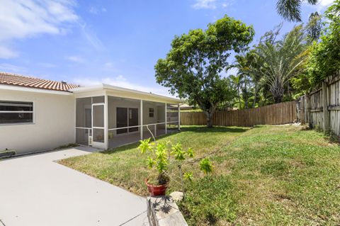
<path fill-rule="evenodd" d="M 252 26 L 228 16 L 210 23 L 206 30 L 175 36 L 166 58 L 154 67 L 157 82 L 169 87 L 171 94 L 200 106 L 207 126 L 212 127 L 217 105 L 232 96 L 229 79 L 221 77 L 229 65 L 227 58 L 232 50 L 246 50 L 253 37 Z"/>

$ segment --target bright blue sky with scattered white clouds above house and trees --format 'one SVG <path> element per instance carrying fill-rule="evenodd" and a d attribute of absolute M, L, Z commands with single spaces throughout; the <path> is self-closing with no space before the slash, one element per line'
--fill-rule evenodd
<path fill-rule="evenodd" d="M 303 4 L 302 21 L 333 1 Z M 278 16 L 274 0 L 0 0 L 0 72 L 169 96 L 154 64 L 174 35 L 225 14 L 254 26 L 253 44 L 281 22 L 282 33 L 295 26 Z"/>

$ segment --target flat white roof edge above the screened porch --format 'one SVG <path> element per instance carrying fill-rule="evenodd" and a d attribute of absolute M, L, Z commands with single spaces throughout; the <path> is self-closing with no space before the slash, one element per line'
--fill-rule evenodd
<path fill-rule="evenodd" d="M 171 98 L 168 96 L 162 96 L 158 94 L 147 93 L 143 91 L 137 91 L 134 89 L 126 89 L 119 86 L 111 86 L 108 84 L 98 84 L 95 86 L 85 86 L 78 87 L 75 89 L 70 89 L 74 94 L 84 94 L 86 92 L 94 92 L 94 91 L 106 91 L 108 96 L 118 96 L 124 98 L 136 98 L 145 101 L 159 101 L 164 103 L 182 103 L 179 98 Z"/>

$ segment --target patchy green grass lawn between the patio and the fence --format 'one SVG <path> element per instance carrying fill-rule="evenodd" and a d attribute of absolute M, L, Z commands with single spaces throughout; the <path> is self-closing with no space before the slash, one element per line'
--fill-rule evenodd
<path fill-rule="evenodd" d="M 161 139 L 193 147 L 198 158 L 210 154 L 214 164 L 210 176 L 186 164 L 195 176 L 180 204 L 189 225 L 340 225 L 340 147 L 318 132 L 194 126 Z M 148 171 L 136 147 L 61 163 L 145 196 Z"/>

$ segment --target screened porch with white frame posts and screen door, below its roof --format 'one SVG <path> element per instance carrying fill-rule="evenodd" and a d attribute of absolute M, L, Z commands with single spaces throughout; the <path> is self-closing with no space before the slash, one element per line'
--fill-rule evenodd
<path fill-rule="evenodd" d="M 109 149 L 180 130 L 176 99 L 166 103 L 162 98 L 83 96 L 76 98 L 79 145 Z"/>

